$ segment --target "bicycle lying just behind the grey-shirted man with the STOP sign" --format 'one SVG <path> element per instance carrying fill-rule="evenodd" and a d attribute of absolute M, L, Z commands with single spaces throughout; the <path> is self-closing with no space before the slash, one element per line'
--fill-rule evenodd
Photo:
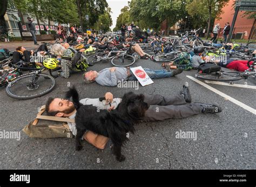
<path fill-rule="evenodd" d="M 127 67 L 136 62 L 134 56 L 127 54 L 128 51 L 129 49 L 126 51 L 119 51 L 117 48 L 113 48 L 110 52 L 107 50 L 97 51 L 96 54 L 86 57 L 86 59 L 89 66 L 93 66 L 95 63 L 100 61 L 107 61 L 111 59 L 113 66 Z"/>

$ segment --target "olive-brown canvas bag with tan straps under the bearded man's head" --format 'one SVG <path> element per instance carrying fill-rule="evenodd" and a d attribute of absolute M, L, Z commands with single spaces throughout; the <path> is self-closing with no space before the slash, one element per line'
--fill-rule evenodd
<path fill-rule="evenodd" d="M 23 132 L 30 138 L 73 138 L 68 122 L 75 123 L 75 119 L 60 118 L 55 116 L 43 115 L 45 105 L 37 114 L 35 120 L 23 128 Z"/>

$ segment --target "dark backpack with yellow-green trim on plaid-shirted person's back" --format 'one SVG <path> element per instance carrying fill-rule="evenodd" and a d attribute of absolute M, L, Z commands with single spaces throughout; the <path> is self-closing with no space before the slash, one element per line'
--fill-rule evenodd
<path fill-rule="evenodd" d="M 62 59 L 70 60 L 72 62 L 72 70 L 74 71 L 86 71 L 88 64 L 86 59 L 82 56 L 82 52 L 77 52 L 75 49 L 68 48 L 72 52 L 71 57 L 62 56 Z"/>

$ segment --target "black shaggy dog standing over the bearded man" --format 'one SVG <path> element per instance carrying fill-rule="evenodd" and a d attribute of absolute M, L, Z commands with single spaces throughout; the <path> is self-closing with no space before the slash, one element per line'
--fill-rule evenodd
<path fill-rule="evenodd" d="M 144 102 L 144 95 L 136 95 L 133 92 L 125 93 L 122 102 L 117 109 L 112 111 L 99 110 L 92 105 L 79 103 L 78 92 L 75 88 L 66 93 L 66 98 L 73 99 L 77 109 L 75 123 L 77 128 L 76 150 L 82 149 L 81 139 L 86 130 L 109 137 L 113 142 L 113 153 L 118 161 L 125 160 L 121 154 L 121 147 L 128 138 L 127 132 L 134 133 L 134 124 L 138 123 L 149 109 Z"/>

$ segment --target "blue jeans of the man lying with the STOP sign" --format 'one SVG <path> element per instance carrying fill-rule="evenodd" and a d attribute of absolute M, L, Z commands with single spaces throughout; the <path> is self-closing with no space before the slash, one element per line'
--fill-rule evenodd
<path fill-rule="evenodd" d="M 153 70 L 153 69 L 149 69 L 149 68 L 143 68 L 147 75 L 149 75 L 149 77 L 151 79 L 153 78 L 166 78 L 166 77 L 171 77 L 173 74 L 170 71 L 166 71 L 165 69 L 160 69 L 160 70 Z M 135 75 L 133 75 L 132 71 L 130 71 L 131 76 L 129 77 L 129 81 L 137 81 L 137 78 Z"/>

